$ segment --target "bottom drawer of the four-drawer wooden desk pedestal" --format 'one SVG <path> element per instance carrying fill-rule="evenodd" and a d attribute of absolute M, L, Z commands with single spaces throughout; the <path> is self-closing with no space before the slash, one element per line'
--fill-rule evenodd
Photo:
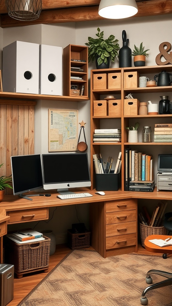
<path fill-rule="evenodd" d="M 136 245 L 136 233 L 106 238 L 106 249 L 123 248 Z"/>

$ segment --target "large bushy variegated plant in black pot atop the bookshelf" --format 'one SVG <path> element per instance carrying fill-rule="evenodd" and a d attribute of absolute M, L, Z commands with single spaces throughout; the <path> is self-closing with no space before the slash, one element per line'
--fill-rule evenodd
<path fill-rule="evenodd" d="M 88 62 L 96 61 L 96 68 L 103 69 L 109 68 L 110 60 L 114 62 L 118 56 L 118 50 L 120 49 L 118 39 L 115 39 L 114 35 L 110 35 L 107 39 L 104 39 L 104 31 L 95 34 L 98 38 L 88 37 Z"/>

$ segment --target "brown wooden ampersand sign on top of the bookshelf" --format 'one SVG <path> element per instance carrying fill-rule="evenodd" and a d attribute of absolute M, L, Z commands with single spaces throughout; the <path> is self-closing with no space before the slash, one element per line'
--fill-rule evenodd
<path fill-rule="evenodd" d="M 166 47 L 166 49 L 164 49 Z M 168 53 L 168 51 L 171 50 L 171 44 L 170 43 L 161 43 L 159 45 L 159 51 L 160 53 L 156 56 L 155 62 L 157 65 L 167 65 L 172 64 L 172 52 Z M 161 57 L 164 57 L 166 59 L 165 62 L 161 62 Z"/>

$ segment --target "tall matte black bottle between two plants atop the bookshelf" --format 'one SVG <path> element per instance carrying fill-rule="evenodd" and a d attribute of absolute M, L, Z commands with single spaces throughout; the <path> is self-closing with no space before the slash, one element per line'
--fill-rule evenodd
<path fill-rule="evenodd" d="M 129 39 L 126 39 L 127 35 L 125 30 L 122 31 L 122 48 L 119 49 L 119 68 L 131 67 L 132 57 L 131 49 L 129 48 Z"/>

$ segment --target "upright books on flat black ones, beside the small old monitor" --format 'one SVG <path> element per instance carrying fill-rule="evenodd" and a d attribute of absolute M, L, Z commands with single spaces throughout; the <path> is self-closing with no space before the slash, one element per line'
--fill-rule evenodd
<path fill-rule="evenodd" d="M 154 159 L 152 156 L 143 152 L 137 152 L 137 150 L 125 149 L 124 159 L 125 191 L 153 192 L 155 188 L 155 181 Z M 144 182 L 148 182 L 150 184 L 144 184 Z"/>

